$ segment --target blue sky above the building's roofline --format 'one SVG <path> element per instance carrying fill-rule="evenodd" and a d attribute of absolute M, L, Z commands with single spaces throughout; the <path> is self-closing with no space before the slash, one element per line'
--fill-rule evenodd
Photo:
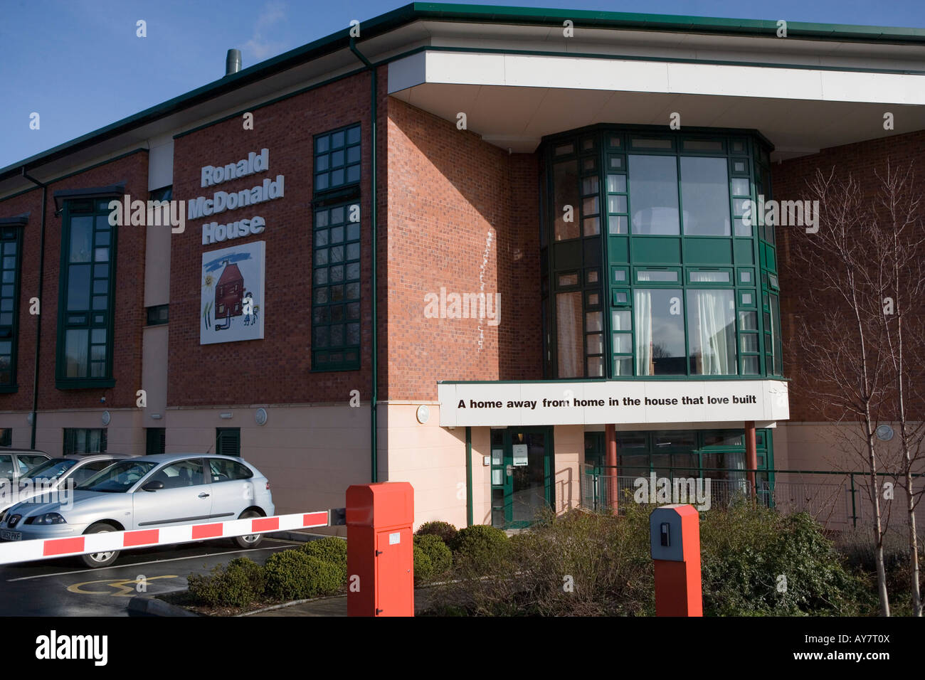
<path fill-rule="evenodd" d="M 407 4 L 364 0 L 3 0 L 0 167 L 131 116 L 225 73 Z M 473 5 L 645 11 L 925 28 L 922 0 L 509 0 Z M 136 21 L 147 37 L 136 36 Z M 40 115 L 30 130 L 30 114 Z"/>

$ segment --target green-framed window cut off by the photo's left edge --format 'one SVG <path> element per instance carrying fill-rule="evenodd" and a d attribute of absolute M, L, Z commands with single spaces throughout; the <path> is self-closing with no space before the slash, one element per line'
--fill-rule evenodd
<path fill-rule="evenodd" d="M 19 279 L 22 229 L 0 229 L 0 393 L 15 392 L 19 350 Z"/>

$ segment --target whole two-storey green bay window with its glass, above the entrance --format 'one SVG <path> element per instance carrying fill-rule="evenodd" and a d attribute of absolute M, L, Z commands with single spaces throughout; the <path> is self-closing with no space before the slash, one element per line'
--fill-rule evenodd
<path fill-rule="evenodd" d="M 781 376 L 770 144 L 745 130 L 595 126 L 541 173 L 545 375 Z M 602 290 L 603 289 L 603 290 Z"/>

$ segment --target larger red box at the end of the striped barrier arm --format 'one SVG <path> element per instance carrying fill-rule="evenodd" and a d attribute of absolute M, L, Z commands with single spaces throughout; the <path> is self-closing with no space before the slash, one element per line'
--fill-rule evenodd
<path fill-rule="evenodd" d="M 408 482 L 347 489 L 347 615 L 414 615 L 414 489 Z"/>

